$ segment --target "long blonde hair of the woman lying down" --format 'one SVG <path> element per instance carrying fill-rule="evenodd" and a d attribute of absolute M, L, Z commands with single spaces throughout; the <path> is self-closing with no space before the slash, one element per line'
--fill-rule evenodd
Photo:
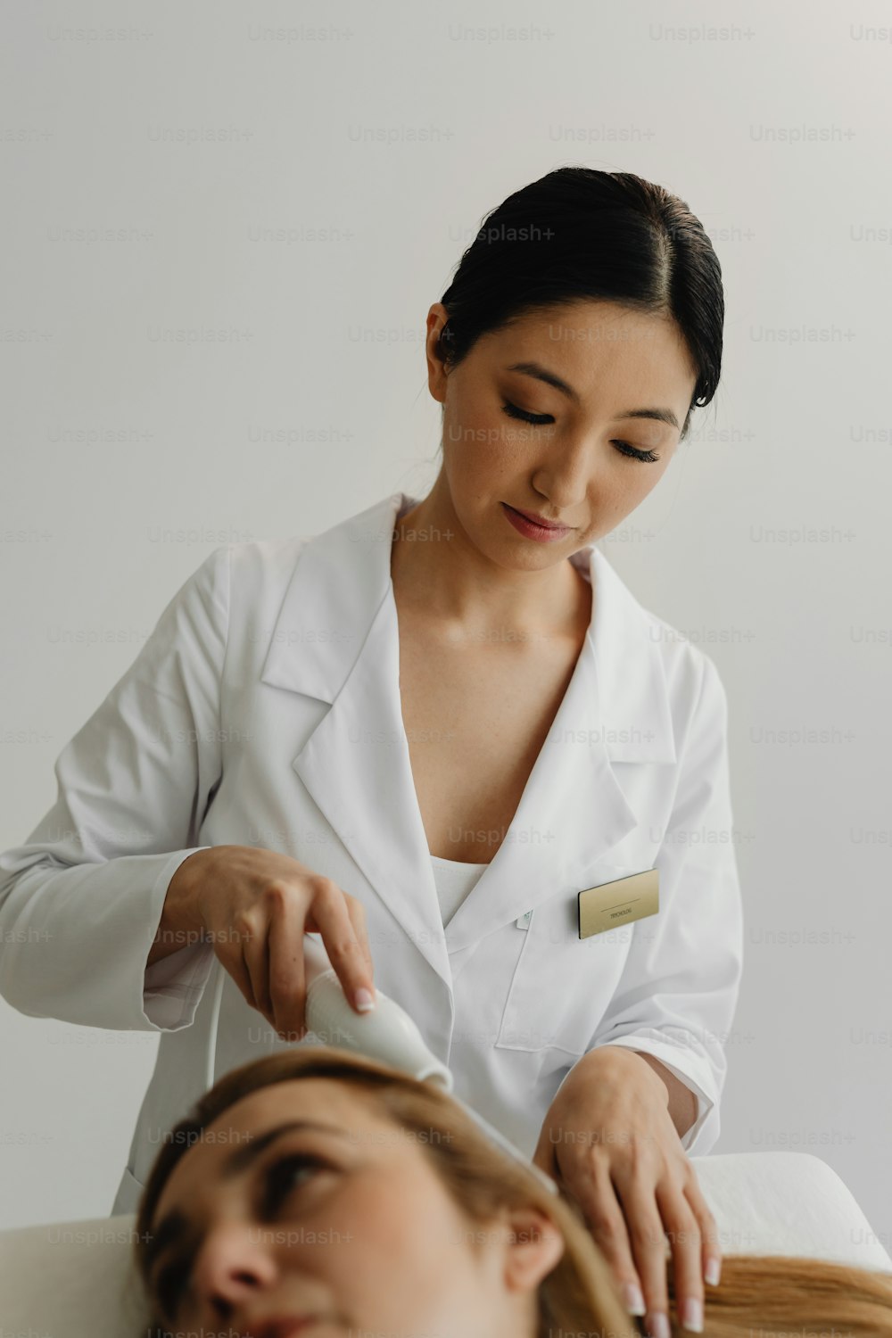
<path fill-rule="evenodd" d="M 346 1082 L 376 1112 L 408 1132 L 455 1203 L 484 1223 L 500 1210 L 538 1208 L 560 1232 L 564 1251 L 539 1284 L 536 1338 L 584 1331 L 588 1338 L 638 1338 L 643 1321 L 631 1317 L 603 1254 L 570 1199 L 552 1195 L 522 1161 L 508 1156 L 445 1092 L 364 1056 L 330 1046 L 296 1046 L 226 1073 L 202 1096 L 163 1143 L 136 1214 L 134 1259 L 148 1307 L 158 1299 L 147 1276 L 151 1219 L 162 1189 L 201 1132 L 242 1097 L 294 1078 Z M 670 1305 L 673 1264 L 667 1259 Z M 674 1310 L 674 1305 L 673 1305 Z M 673 1338 L 682 1329 L 670 1310 Z M 164 1333 L 154 1318 L 147 1333 Z M 705 1288 L 705 1338 L 892 1338 L 892 1275 L 792 1255 L 730 1255 L 717 1287 Z"/>

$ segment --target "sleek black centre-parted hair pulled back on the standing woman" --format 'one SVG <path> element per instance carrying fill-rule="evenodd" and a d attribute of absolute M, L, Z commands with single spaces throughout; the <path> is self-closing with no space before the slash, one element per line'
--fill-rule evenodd
<path fill-rule="evenodd" d="M 633 173 L 558 167 L 485 217 L 440 298 L 445 365 L 523 316 L 599 298 L 678 325 L 697 369 L 685 436 L 718 387 L 722 272 L 687 203 Z"/>

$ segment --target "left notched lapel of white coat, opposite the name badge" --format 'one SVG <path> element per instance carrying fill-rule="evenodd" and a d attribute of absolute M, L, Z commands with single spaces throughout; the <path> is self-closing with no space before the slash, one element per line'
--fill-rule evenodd
<path fill-rule="evenodd" d="M 304 549 L 261 678 L 332 704 L 292 765 L 404 933 L 451 987 L 400 700 L 391 545 L 403 500 L 393 494 Z"/>

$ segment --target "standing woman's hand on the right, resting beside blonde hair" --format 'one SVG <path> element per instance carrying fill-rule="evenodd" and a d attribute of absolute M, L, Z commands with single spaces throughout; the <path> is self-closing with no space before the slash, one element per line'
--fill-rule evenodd
<path fill-rule="evenodd" d="M 718 1228 L 658 1073 L 618 1045 L 583 1054 L 548 1108 L 534 1161 L 579 1204 L 629 1310 L 646 1309 L 654 1338 L 670 1338 L 669 1236 L 679 1319 L 701 1331 L 703 1274 L 709 1259 L 721 1259 Z M 635 1287 L 637 1298 L 627 1291 Z"/>

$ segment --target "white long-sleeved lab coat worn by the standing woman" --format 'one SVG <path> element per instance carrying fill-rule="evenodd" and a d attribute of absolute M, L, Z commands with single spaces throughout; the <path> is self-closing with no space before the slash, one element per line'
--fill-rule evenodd
<path fill-rule="evenodd" d="M 0 856 L 0 993 L 21 1013 L 160 1032 L 114 1212 L 219 1077 L 282 1049 L 210 943 L 146 969 L 193 851 L 282 851 L 358 898 L 376 985 L 456 1094 L 532 1155 L 574 1062 L 645 1050 L 697 1096 L 715 1143 L 742 967 L 726 697 L 713 661 L 631 595 L 594 546 L 592 621 L 492 863 L 444 929 L 399 690 L 393 494 L 313 539 L 210 553 L 62 751 L 55 805 Z M 657 915 L 579 939 L 576 892 L 659 870 Z M 528 926 L 518 918 L 532 911 Z M 312 1044 L 306 1037 L 305 1042 Z"/>

